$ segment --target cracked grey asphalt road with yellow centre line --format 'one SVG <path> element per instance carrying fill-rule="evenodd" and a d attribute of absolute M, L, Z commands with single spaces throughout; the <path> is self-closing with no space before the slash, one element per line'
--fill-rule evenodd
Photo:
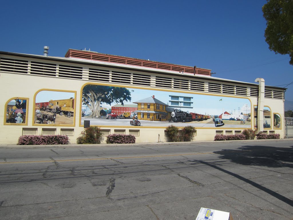
<path fill-rule="evenodd" d="M 3 220 L 292 219 L 292 140 L 5 148 Z"/>

